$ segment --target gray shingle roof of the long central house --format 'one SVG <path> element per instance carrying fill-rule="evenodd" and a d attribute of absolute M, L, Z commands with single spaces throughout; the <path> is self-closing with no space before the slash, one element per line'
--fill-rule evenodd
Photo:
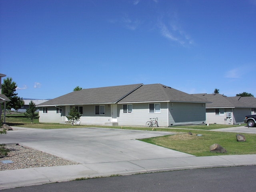
<path fill-rule="evenodd" d="M 74 91 L 38 106 L 110 104 L 129 102 L 200 102 L 204 100 L 162 84 L 132 84 Z"/>

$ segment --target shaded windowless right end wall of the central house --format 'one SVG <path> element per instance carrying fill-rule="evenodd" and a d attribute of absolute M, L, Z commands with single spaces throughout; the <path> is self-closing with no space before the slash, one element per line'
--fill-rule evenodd
<path fill-rule="evenodd" d="M 169 102 L 169 126 L 205 124 L 205 104 Z"/>

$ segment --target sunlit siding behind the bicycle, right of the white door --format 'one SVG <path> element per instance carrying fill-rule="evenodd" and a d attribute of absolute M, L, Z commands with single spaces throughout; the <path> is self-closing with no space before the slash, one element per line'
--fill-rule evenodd
<path fill-rule="evenodd" d="M 168 126 L 167 123 L 167 102 L 160 103 L 160 113 L 150 113 L 149 103 L 134 103 L 132 104 L 132 113 L 123 113 L 123 104 L 118 104 L 118 124 L 129 126 L 146 126 L 146 122 L 150 118 L 158 118 L 159 126 Z"/>

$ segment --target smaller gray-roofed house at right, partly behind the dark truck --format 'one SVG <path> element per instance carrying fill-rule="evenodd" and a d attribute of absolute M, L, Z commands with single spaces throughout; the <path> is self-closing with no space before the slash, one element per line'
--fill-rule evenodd
<path fill-rule="evenodd" d="M 227 97 L 221 94 L 192 94 L 206 103 L 207 124 L 240 124 L 244 117 L 256 114 L 255 97 Z"/>

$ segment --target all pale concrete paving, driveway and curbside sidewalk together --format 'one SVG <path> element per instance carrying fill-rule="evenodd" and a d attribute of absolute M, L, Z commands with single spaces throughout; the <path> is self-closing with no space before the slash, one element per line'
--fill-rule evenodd
<path fill-rule="evenodd" d="M 105 128 L 8 132 L 0 136 L 1 143 L 20 143 L 80 164 L 0 171 L 0 189 L 113 174 L 256 165 L 256 155 L 195 157 L 136 140 L 168 134 Z"/>

